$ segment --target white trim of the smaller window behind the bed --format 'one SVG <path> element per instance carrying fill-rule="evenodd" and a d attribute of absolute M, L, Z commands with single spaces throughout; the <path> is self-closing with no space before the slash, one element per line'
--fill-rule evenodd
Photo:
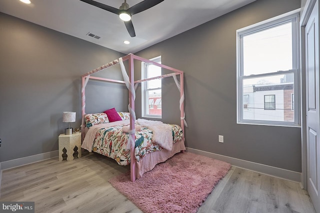
<path fill-rule="evenodd" d="M 154 61 L 154 62 L 161 62 L 161 55 L 151 58 L 149 59 L 150 61 Z M 145 73 L 145 67 L 147 65 L 149 65 L 150 63 L 146 63 L 146 62 L 141 62 L 141 79 L 145 79 L 146 78 L 146 73 Z M 151 91 L 151 90 L 158 90 L 161 89 L 160 88 L 152 88 L 152 89 L 146 89 L 146 82 L 143 81 L 141 82 L 141 116 L 145 117 L 145 118 L 161 118 L 162 117 L 162 113 L 161 115 L 150 115 L 147 113 L 147 109 L 148 106 L 146 105 L 146 103 L 148 103 L 148 101 L 146 100 L 146 97 L 148 97 L 147 92 Z M 162 90 L 161 90 L 162 91 Z M 161 94 L 162 96 L 162 94 Z"/>

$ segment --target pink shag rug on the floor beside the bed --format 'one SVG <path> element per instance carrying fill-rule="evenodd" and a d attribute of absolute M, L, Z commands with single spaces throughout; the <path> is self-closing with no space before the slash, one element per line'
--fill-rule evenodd
<path fill-rule="evenodd" d="M 156 165 L 134 183 L 129 174 L 109 182 L 144 213 L 195 213 L 230 167 L 185 152 Z"/>

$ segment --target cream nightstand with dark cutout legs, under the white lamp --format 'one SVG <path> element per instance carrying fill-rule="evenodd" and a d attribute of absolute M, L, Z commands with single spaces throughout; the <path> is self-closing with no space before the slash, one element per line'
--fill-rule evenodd
<path fill-rule="evenodd" d="M 64 150 L 65 149 L 65 150 Z M 66 160 L 72 161 L 73 155 L 81 158 L 81 133 L 73 133 L 72 135 L 59 135 L 59 161 L 63 160 L 62 155 L 67 155 Z"/>

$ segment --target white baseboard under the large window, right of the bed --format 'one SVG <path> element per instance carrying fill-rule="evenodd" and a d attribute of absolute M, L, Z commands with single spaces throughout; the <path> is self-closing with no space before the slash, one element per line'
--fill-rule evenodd
<path fill-rule="evenodd" d="M 250 161 L 245 161 L 237 158 L 231 158 L 224 155 L 214 154 L 210 152 L 205 152 L 201 150 L 196 150 L 192 148 L 186 148 L 186 152 L 191 152 L 194 154 L 206 156 L 209 158 L 214 158 L 216 160 L 224 161 L 231 164 L 234 167 L 242 168 L 245 170 L 250 170 L 252 172 L 261 173 L 264 175 L 273 176 L 276 178 L 281 178 L 284 180 L 301 183 L 301 173 L 294 172 L 290 170 L 285 170 L 277 167 L 271 167 L 264 164 L 254 163 Z"/>

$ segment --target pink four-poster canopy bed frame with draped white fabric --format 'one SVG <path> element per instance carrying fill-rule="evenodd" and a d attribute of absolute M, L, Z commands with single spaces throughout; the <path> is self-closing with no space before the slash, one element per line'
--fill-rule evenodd
<path fill-rule="evenodd" d="M 153 65 L 155 66 L 159 66 L 161 68 L 165 68 L 167 70 L 170 70 L 172 71 L 172 73 L 169 73 L 169 74 L 165 74 L 165 75 L 160 75 L 160 76 L 156 76 L 156 77 L 152 77 L 152 78 L 147 78 L 147 79 L 141 79 L 141 80 L 134 80 L 134 64 L 133 64 L 133 60 L 139 60 L 139 61 L 143 61 L 143 62 L 147 62 L 147 63 L 152 63 Z M 91 74 L 93 73 L 96 73 L 96 72 L 99 72 L 103 69 L 106 69 L 110 66 L 113 66 L 115 64 L 118 64 L 120 63 L 120 65 L 122 63 L 122 61 L 126 61 L 128 60 L 128 68 L 129 68 L 129 71 L 128 71 L 128 81 L 129 82 L 126 82 L 126 81 L 120 81 L 120 80 L 113 80 L 113 79 L 107 79 L 107 78 L 101 78 L 101 77 L 94 77 L 94 76 L 90 76 Z M 123 56 L 122 58 L 119 58 L 119 59 L 116 59 L 114 61 L 111 61 L 107 64 L 104 64 L 96 69 L 93 69 L 85 74 L 83 74 L 81 76 L 82 78 L 82 117 L 85 115 L 85 86 L 86 86 L 86 83 L 89 79 L 94 79 L 94 80 L 101 80 L 101 81 L 109 81 L 109 82 L 116 82 L 116 83 L 124 83 L 126 84 L 126 86 L 128 87 L 128 90 L 129 90 L 129 113 L 130 113 L 130 132 L 131 134 L 129 134 L 129 140 L 131 141 L 134 141 L 135 140 L 135 135 L 134 135 L 134 121 L 135 121 L 135 113 L 134 113 L 134 98 L 135 98 L 135 93 L 134 93 L 134 88 L 133 88 L 133 85 L 134 83 L 140 83 L 140 82 L 143 82 L 143 81 L 148 81 L 148 80 L 153 80 L 153 79 L 160 79 L 160 78 L 165 78 L 165 77 L 170 77 L 170 76 L 176 76 L 176 75 L 180 75 L 180 84 L 179 84 L 179 91 L 180 91 L 180 120 L 181 120 L 181 129 L 182 129 L 182 134 L 183 134 L 183 141 L 184 141 L 184 125 L 186 125 L 186 122 L 184 120 L 184 106 L 183 106 L 183 103 L 184 103 L 184 92 L 183 92 L 183 71 L 181 70 L 178 70 L 178 69 L 175 69 L 175 68 L 172 68 L 172 67 L 169 67 L 169 66 L 166 66 L 166 65 L 163 65 L 163 64 L 159 64 L 159 63 L 156 63 L 154 61 L 150 61 L 148 59 L 145 59 L 145 58 L 142 58 L 142 57 L 139 57 L 139 56 L 136 56 L 134 54 L 128 54 L 126 56 Z M 176 82 L 177 83 L 177 82 Z M 178 85 L 178 83 L 177 83 Z M 133 89 L 132 89 L 133 88 Z M 133 132 L 133 134 L 132 134 Z M 82 131 L 82 136 L 83 136 L 83 131 Z M 82 137 L 82 140 L 83 140 L 83 137 Z M 136 167 L 136 161 L 134 160 L 135 157 L 134 157 L 134 143 L 131 143 L 130 144 L 130 158 L 131 158 L 131 161 L 130 161 L 130 180 L 132 182 L 135 181 L 135 167 Z M 132 160 L 133 159 L 133 160 Z"/>

